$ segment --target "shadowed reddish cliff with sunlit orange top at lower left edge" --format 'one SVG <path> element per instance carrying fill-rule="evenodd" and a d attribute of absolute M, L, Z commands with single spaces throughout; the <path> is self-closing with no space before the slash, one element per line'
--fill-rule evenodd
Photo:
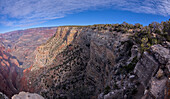
<path fill-rule="evenodd" d="M 18 60 L 0 47 L 0 91 L 11 97 L 18 93 L 19 79 L 21 76 Z"/>

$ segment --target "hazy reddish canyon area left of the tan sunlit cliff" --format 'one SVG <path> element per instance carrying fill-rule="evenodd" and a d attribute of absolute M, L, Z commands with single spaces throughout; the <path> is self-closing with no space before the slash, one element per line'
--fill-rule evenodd
<path fill-rule="evenodd" d="M 8 97 L 20 92 L 24 69 L 33 65 L 34 50 L 46 42 L 56 27 L 34 28 L 0 34 L 0 91 Z"/>

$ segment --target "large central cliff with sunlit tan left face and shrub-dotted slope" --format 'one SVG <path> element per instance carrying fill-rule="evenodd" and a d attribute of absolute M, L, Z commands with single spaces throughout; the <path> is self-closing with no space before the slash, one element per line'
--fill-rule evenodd
<path fill-rule="evenodd" d="M 47 43 L 36 49 L 31 69 L 34 73 L 30 74 L 34 80 L 30 82 L 42 88 L 39 90 L 44 97 L 96 97 L 108 85 L 114 65 L 130 58 L 128 54 L 133 45 L 128 39 L 130 35 L 59 27 Z M 120 47 L 122 52 L 119 52 Z M 120 53 L 124 54 L 123 58 Z M 36 80 L 35 75 L 39 76 Z"/>

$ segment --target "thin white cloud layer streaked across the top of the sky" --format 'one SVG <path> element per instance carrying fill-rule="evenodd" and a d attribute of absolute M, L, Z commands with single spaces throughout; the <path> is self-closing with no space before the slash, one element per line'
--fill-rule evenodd
<path fill-rule="evenodd" d="M 28 26 L 103 7 L 170 15 L 170 0 L 0 0 L 0 23 Z"/>

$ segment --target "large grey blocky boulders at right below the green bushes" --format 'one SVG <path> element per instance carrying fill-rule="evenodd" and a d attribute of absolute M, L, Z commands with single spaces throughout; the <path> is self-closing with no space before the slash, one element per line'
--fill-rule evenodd
<path fill-rule="evenodd" d="M 150 53 L 144 52 L 143 57 L 135 67 L 135 73 L 147 92 L 144 99 L 168 99 L 170 49 L 161 45 L 153 45 Z M 168 88 L 168 89 L 166 89 Z"/>

